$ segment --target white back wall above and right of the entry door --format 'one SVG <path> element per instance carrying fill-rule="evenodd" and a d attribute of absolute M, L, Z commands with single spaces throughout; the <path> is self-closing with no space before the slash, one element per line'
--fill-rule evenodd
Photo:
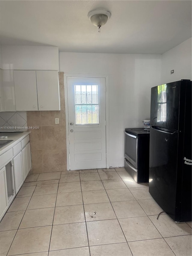
<path fill-rule="evenodd" d="M 59 53 L 64 73 L 109 75 L 109 164 L 124 166 L 124 130 L 150 117 L 151 87 L 160 84 L 161 55 Z"/>

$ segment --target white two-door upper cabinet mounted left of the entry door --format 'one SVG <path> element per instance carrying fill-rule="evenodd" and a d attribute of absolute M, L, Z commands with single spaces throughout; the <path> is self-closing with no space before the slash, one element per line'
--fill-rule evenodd
<path fill-rule="evenodd" d="M 14 70 L 16 111 L 60 110 L 58 71 Z"/>

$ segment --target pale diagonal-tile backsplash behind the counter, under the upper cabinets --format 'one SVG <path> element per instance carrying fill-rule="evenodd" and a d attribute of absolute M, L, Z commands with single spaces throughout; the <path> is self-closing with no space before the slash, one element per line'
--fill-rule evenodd
<path fill-rule="evenodd" d="M 0 131 L 27 131 L 27 112 L 0 112 Z"/>

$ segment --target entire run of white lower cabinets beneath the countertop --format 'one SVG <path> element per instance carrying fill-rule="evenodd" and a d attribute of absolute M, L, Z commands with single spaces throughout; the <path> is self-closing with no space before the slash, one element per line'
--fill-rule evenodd
<path fill-rule="evenodd" d="M 31 170 L 29 135 L 13 146 L 13 148 L 0 155 L 0 164 L 1 221 Z"/>

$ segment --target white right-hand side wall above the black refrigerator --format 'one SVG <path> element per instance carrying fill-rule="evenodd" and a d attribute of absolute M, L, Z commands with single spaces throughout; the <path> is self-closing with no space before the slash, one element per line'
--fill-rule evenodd
<path fill-rule="evenodd" d="M 174 73 L 171 74 L 173 69 Z M 162 54 L 161 84 L 181 79 L 192 80 L 191 70 L 191 38 Z"/>

